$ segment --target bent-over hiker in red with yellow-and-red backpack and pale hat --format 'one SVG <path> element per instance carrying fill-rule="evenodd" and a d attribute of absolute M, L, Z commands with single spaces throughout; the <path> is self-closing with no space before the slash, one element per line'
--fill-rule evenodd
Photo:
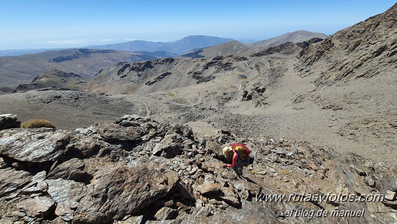
<path fill-rule="evenodd" d="M 223 155 L 233 156 L 231 164 L 221 164 L 220 168 L 233 167 L 236 173 L 242 175 L 242 167 L 248 165 L 249 162 L 249 149 L 241 143 L 233 143 L 232 146 L 226 146 L 222 149 Z M 236 169 L 237 168 L 237 169 Z"/>

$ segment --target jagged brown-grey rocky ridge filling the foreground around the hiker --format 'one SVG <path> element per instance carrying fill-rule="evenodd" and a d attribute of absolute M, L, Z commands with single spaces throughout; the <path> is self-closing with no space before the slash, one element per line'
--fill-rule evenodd
<path fill-rule="evenodd" d="M 252 151 L 243 177 L 221 148 Z M 181 124 L 125 115 L 75 131 L 0 131 L 1 223 L 396 223 L 396 167 L 307 142 L 197 139 Z M 380 202 L 261 201 L 264 194 L 384 195 Z M 362 217 L 288 211 L 363 211 Z M 360 216 L 357 215 L 356 216 Z"/>

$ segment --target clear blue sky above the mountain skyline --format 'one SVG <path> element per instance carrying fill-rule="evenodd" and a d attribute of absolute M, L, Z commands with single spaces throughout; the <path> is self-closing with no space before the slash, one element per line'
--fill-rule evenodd
<path fill-rule="evenodd" d="M 330 35 L 396 0 L 0 0 L 0 50 L 81 47 L 188 35 L 265 40 Z"/>

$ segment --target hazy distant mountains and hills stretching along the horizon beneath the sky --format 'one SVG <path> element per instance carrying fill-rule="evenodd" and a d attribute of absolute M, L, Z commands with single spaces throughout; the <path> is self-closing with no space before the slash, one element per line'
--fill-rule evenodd
<path fill-rule="evenodd" d="M 298 37 L 295 37 L 295 34 Z M 2 80 L 0 91 L 12 92 L 19 84 L 30 83 L 38 75 L 47 71 L 54 71 L 55 69 L 65 73 L 77 74 L 84 79 L 91 79 L 101 69 L 105 69 L 118 62 L 133 63 L 157 58 L 176 58 L 180 53 L 188 51 L 194 52 L 193 54 L 200 54 L 197 56 L 187 56 L 191 58 L 242 55 L 242 53 L 245 53 L 244 55 L 250 55 L 251 51 L 252 53 L 257 53 L 269 44 L 287 41 L 295 42 L 296 40 L 305 41 L 314 36 L 323 37 L 325 35 L 309 31 L 296 31 L 280 37 L 271 38 L 269 39 L 271 40 L 270 43 L 260 41 L 248 45 L 230 38 L 193 35 L 175 42 L 137 40 L 119 44 L 89 46 L 87 48 L 45 51 L 19 56 L 3 56 L 0 60 L 0 77 Z M 258 49 L 253 49 L 251 46 L 258 46 L 256 47 Z M 195 49 L 203 48 L 204 53 L 195 52 Z M 19 50 L 19 52 L 22 52 L 22 50 Z M 64 77 L 61 78 L 64 79 Z"/>

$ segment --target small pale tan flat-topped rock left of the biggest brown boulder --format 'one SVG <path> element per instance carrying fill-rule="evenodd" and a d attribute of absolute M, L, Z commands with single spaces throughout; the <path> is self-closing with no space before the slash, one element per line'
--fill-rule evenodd
<path fill-rule="evenodd" d="M 26 199 L 16 204 L 16 207 L 30 217 L 45 217 L 55 208 L 55 201 L 48 197 Z"/>

